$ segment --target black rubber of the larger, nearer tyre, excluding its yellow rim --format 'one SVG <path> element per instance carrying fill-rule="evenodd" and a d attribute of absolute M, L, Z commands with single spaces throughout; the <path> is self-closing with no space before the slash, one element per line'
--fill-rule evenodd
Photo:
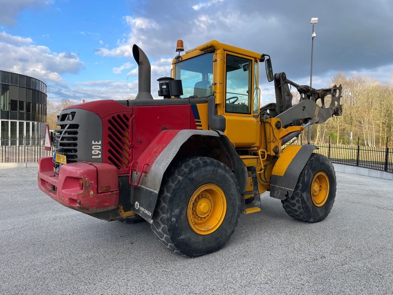
<path fill-rule="evenodd" d="M 205 184 L 224 192 L 226 212 L 219 227 L 209 234 L 196 233 L 187 218 L 193 194 Z M 209 157 L 182 159 L 165 172 L 151 229 L 174 253 L 197 257 L 221 249 L 233 234 L 241 211 L 239 183 L 232 171 Z"/>

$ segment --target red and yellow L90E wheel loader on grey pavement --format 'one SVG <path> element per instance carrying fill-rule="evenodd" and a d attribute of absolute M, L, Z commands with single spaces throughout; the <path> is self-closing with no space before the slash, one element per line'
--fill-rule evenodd
<path fill-rule="evenodd" d="M 95 218 L 146 220 L 165 247 L 188 257 L 222 248 L 240 214 L 261 210 L 266 191 L 292 218 L 325 219 L 336 195 L 333 166 L 317 147 L 290 141 L 342 114 L 341 85 L 298 85 L 273 74 L 268 54 L 215 40 L 185 52 L 176 45 L 170 76 L 158 79 L 162 99 L 153 99 L 149 59 L 134 44 L 135 100 L 61 112 L 55 153 L 39 159 L 40 190 Z M 263 107 L 261 63 L 276 96 Z"/>

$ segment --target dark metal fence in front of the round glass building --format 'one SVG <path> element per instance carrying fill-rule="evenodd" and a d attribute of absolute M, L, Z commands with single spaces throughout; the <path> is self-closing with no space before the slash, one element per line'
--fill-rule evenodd
<path fill-rule="evenodd" d="M 38 162 L 40 157 L 53 155 L 53 151 L 46 151 L 43 138 L 0 138 L 0 162 Z"/>

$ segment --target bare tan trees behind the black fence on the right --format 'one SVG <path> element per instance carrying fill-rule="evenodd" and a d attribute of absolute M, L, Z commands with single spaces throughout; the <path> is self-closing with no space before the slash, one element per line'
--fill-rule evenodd
<path fill-rule="evenodd" d="M 382 82 L 360 74 L 347 77 L 339 72 L 332 77 L 328 87 L 340 84 L 343 87 L 340 100 L 343 114 L 323 124 L 312 125 L 312 143 L 327 144 L 330 136 L 331 144 L 351 144 L 352 131 L 353 144 L 357 144 L 359 138 L 362 146 L 385 146 L 388 138 L 388 145 L 393 146 L 393 77 Z M 294 100 L 298 101 L 297 93 Z M 329 106 L 330 100 L 327 96 L 325 105 Z M 307 131 L 299 141 L 307 142 Z"/>

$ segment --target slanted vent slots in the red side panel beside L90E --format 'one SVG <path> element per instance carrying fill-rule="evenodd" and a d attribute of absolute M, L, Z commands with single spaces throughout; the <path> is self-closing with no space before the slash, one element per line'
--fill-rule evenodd
<path fill-rule="evenodd" d="M 108 161 L 118 170 L 130 167 L 130 114 L 116 114 L 108 119 Z"/>

